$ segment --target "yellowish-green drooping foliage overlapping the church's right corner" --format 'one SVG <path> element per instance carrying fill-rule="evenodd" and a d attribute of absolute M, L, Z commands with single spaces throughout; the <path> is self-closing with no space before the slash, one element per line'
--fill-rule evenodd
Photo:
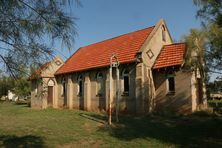
<path fill-rule="evenodd" d="M 201 76 L 203 90 L 206 90 L 208 83 L 208 64 L 206 64 L 207 32 L 204 29 L 191 29 L 190 33 L 184 37 L 187 45 L 184 68 L 192 70 Z M 208 92 L 208 91 L 207 91 Z M 203 100 L 207 99 L 208 93 L 203 93 Z"/>

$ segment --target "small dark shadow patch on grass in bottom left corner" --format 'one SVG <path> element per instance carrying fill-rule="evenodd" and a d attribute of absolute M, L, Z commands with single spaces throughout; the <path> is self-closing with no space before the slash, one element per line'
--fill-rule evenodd
<path fill-rule="evenodd" d="M 44 142 L 41 137 L 27 135 L 27 136 L 14 136 L 14 135 L 0 135 L 0 147 L 44 147 Z"/>

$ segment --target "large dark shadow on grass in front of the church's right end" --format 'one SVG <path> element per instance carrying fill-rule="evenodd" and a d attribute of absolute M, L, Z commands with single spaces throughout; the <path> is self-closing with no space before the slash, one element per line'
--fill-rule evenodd
<path fill-rule="evenodd" d="M 90 115 L 104 120 L 104 116 Z M 179 147 L 222 147 L 222 119 L 215 116 L 120 116 L 113 126 L 99 127 L 99 132 L 123 141 L 156 139 Z M 106 122 L 104 120 L 104 122 Z"/>

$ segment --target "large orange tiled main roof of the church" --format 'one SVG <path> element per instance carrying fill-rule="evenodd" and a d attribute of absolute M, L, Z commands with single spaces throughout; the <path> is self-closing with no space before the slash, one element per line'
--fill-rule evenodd
<path fill-rule="evenodd" d="M 56 72 L 56 75 L 105 67 L 115 53 L 120 63 L 135 61 L 135 56 L 154 27 L 124 34 L 79 48 Z"/>

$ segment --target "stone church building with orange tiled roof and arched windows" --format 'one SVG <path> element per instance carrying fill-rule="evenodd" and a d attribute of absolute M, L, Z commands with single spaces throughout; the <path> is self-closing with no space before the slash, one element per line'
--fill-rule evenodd
<path fill-rule="evenodd" d="M 118 104 L 120 112 L 137 114 L 200 110 L 206 107 L 205 84 L 199 73 L 183 68 L 185 56 L 186 44 L 174 43 L 161 19 L 81 47 L 65 63 L 59 60 L 39 98 L 32 79 L 31 105 L 107 111 Z"/>

